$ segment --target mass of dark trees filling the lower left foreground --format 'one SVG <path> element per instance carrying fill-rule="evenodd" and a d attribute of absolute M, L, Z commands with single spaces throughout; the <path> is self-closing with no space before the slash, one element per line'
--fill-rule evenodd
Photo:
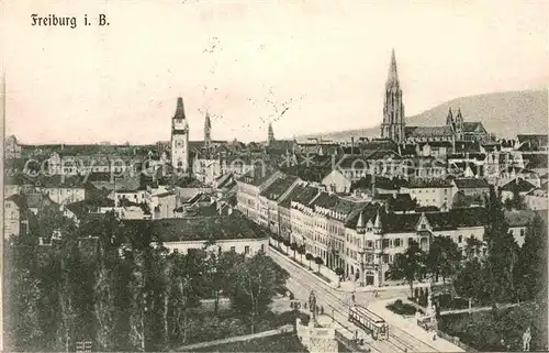
<path fill-rule="evenodd" d="M 60 243 L 35 234 L 61 230 Z M 42 229 L 42 230 L 41 230 Z M 168 253 L 148 223 L 126 229 L 114 214 L 77 228 L 60 214 L 10 240 L 4 258 L 4 328 L 12 351 L 164 351 L 192 334 L 202 298 L 223 295 L 251 332 L 288 273 L 269 257 L 219 253 L 213 246 Z M 204 338 L 205 339 L 205 338 Z"/>

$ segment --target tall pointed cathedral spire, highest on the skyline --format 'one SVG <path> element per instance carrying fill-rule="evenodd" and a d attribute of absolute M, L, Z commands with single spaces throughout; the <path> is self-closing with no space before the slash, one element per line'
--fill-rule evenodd
<path fill-rule="evenodd" d="M 404 103 L 402 102 L 402 89 L 396 70 L 394 49 L 391 53 L 391 65 L 385 84 L 385 98 L 383 100 L 383 123 L 381 124 L 381 137 L 391 139 L 397 143 L 404 141 Z"/>

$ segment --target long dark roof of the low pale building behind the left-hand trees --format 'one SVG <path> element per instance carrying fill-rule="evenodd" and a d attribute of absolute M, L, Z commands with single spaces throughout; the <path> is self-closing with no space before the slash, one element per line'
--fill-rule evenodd
<path fill-rule="evenodd" d="M 193 240 L 259 239 L 267 236 L 253 221 L 233 213 L 229 216 L 192 217 L 163 220 L 123 220 L 127 230 L 139 230 L 150 223 L 153 235 L 164 242 Z M 131 232 L 134 233 L 134 232 Z"/>

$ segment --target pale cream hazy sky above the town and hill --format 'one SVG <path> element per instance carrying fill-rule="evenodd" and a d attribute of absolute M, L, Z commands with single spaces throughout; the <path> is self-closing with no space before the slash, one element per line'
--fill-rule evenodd
<path fill-rule="evenodd" d="M 25 143 L 265 140 L 380 123 L 394 47 L 406 115 L 549 81 L 548 1 L 7 1 L 7 133 Z M 77 16 L 76 29 L 31 14 Z M 85 26 L 104 13 L 109 26 Z M 208 87 L 204 89 L 203 87 Z M 466 114 L 467 120 L 467 114 Z M 441 123 L 444 117 L 440 117 Z"/>

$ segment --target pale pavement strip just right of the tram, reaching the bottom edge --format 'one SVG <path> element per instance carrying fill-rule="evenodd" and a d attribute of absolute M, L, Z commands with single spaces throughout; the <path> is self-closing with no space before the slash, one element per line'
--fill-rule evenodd
<path fill-rule="evenodd" d="M 433 335 L 435 334 L 435 332 L 427 332 L 418 327 L 415 318 L 406 319 L 386 309 L 385 306 L 393 301 L 394 299 L 374 301 L 369 305 L 368 309 L 384 318 L 385 321 L 390 324 L 412 334 L 417 340 L 423 341 L 425 344 L 433 346 L 439 352 L 464 352 L 462 349 L 453 343 L 446 341 L 445 339 L 437 338 L 435 341 L 433 341 Z M 396 332 L 393 331 L 393 333 Z"/>

